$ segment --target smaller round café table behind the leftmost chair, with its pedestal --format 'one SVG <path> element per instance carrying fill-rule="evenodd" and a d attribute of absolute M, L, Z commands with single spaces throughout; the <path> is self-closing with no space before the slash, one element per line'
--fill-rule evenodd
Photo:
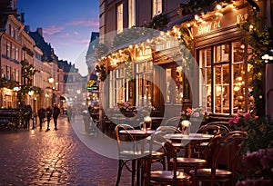
<path fill-rule="evenodd" d="M 146 138 L 150 135 L 152 135 L 153 133 L 155 133 L 156 131 L 154 130 L 139 130 L 139 129 L 135 129 L 135 130 L 127 130 L 127 131 L 120 131 L 119 133 L 121 134 L 126 134 L 127 132 L 129 132 L 136 141 L 141 141 L 141 152 L 145 152 L 146 151 Z M 137 166 L 136 166 L 136 185 L 140 185 L 143 184 L 145 182 L 144 178 L 143 178 L 143 174 L 144 174 L 144 167 L 145 163 L 143 162 L 142 158 L 140 157 L 137 160 Z"/>

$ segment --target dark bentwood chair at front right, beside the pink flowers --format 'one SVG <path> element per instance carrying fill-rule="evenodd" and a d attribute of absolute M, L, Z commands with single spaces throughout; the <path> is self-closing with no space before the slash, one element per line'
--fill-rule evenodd
<path fill-rule="evenodd" d="M 195 182 L 210 182 L 211 186 L 215 185 L 215 183 L 224 185 L 227 181 L 233 183 L 238 168 L 241 144 L 246 138 L 246 132 L 239 131 L 228 132 L 222 137 L 218 135 L 207 146 L 205 154 L 208 162 L 207 168 L 189 171 Z"/>

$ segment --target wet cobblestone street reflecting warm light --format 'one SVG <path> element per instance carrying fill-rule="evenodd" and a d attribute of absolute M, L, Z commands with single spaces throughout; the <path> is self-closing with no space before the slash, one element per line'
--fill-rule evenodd
<path fill-rule="evenodd" d="M 70 124 L 59 117 L 58 131 L 0 132 L 0 185 L 115 185 L 117 160 L 91 151 L 79 140 L 72 125 L 81 130 L 81 116 Z M 86 136 L 89 138 L 90 136 Z M 123 171 L 120 185 L 130 181 Z"/>

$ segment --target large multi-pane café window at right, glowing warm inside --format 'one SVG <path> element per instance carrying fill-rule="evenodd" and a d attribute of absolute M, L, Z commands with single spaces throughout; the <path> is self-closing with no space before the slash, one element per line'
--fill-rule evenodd
<path fill-rule="evenodd" d="M 251 65 L 244 59 L 245 46 L 240 41 L 218 44 L 198 51 L 200 73 L 204 77 L 202 95 L 207 111 L 233 114 L 252 109 L 249 96 Z"/>

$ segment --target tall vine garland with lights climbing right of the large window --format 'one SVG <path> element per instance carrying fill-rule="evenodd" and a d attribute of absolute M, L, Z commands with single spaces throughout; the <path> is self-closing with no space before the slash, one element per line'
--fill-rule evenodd
<path fill-rule="evenodd" d="M 262 60 L 262 55 L 265 54 L 270 43 L 268 27 L 261 27 L 261 17 L 256 9 L 252 9 L 248 20 L 244 24 L 240 24 L 242 29 L 246 31 L 245 40 L 252 47 L 252 55 L 248 60 L 248 64 L 253 66 L 253 77 L 249 83 L 253 87 L 250 95 L 254 98 L 254 112 L 258 116 L 263 116 L 265 113 L 265 67 L 266 64 Z"/>

